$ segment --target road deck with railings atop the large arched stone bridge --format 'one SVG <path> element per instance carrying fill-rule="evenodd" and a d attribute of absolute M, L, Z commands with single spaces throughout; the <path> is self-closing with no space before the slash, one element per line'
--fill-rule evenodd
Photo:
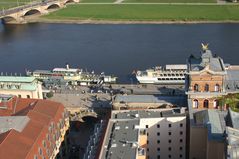
<path fill-rule="evenodd" d="M 32 8 L 32 7 L 36 7 L 36 6 L 44 6 L 44 5 L 47 5 L 47 4 L 52 3 L 52 2 L 59 2 L 59 0 L 34 1 L 30 4 L 26 4 L 26 5 L 23 5 L 23 6 L 18 6 L 18 7 L 9 8 L 9 9 L 3 9 L 2 11 L 0 11 L 0 17 L 6 16 L 6 15 L 9 15 L 9 14 L 13 14 L 13 13 L 17 13 L 17 12 L 20 12 L 20 11 L 22 11 L 24 9 L 27 9 L 27 8 Z"/>

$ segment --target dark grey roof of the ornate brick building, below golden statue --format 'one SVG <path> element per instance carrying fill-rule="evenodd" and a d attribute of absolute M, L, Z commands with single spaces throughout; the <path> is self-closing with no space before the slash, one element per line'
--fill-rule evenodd
<path fill-rule="evenodd" d="M 190 56 L 188 62 L 190 71 L 201 71 L 207 66 L 214 72 L 225 71 L 223 60 L 218 56 L 213 56 L 210 50 L 202 52 L 202 55 L 199 58 Z"/>

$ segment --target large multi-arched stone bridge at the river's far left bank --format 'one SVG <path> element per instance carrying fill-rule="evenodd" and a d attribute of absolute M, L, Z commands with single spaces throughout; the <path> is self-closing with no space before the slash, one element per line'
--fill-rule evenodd
<path fill-rule="evenodd" d="M 0 11 L 0 19 L 3 24 L 26 23 L 27 18 L 32 15 L 44 15 L 55 9 L 60 9 L 68 3 L 79 2 L 79 0 L 42 0 L 31 4 Z"/>

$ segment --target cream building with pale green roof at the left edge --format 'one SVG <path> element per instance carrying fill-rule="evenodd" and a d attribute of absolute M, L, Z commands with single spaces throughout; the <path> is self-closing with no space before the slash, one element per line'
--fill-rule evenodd
<path fill-rule="evenodd" d="M 35 77 L 0 76 L 0 94 L 43 99 L 41 82 Z"/>

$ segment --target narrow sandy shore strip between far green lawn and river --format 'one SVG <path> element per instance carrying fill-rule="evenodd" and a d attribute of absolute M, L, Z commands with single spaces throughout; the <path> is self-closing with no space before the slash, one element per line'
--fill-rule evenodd
<path fill-rule="evenodd" d="M 70 19 L 46 19 L 46 18 L 34 18 L 28 20 L 29 23 L 62 23 L 62 24 L 203 24 L 203 23 L 239 23 L 239 21 L 138 21 L 138 20 L 70 20 Z"/>

